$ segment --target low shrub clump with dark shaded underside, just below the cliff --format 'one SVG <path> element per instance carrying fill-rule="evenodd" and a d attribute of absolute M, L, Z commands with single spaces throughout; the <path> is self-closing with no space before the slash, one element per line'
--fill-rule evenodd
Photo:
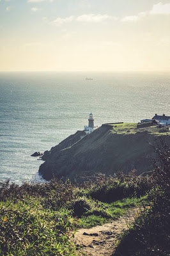
<path fill-rule="evenodd" d="M 79 195 L 85 191 L 87 196 L 107 203 L 143 196 L 153 186 L 150 177 L 137 177 L 135 170 L 127 175 L 119 173 L 116 179 L 99 173 L 93 185 L 91 183 L 91 180 L 86 183 L 86 190 L 80 191 Z"/>

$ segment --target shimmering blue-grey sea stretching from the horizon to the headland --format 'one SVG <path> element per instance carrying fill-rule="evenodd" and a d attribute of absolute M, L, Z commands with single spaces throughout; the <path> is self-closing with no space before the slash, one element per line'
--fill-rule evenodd
<path fill-rule="evenodd" d="M 91 111 L 95 125 L 170 116 L 170 74 L 0 73 L 0 179 L 40 179 L 30 155 L 83 129 Z"/>

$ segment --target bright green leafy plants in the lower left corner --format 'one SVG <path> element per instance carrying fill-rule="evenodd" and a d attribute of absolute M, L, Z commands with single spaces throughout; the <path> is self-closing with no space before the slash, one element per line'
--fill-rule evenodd
<path fill-rule="evenodd" d="M 1 255 L 74 255 L 66 236 L 72 227 L 68 212 L 49 211 L 35 198 L 24 198 L 1 202 L 0 214 Z"/>

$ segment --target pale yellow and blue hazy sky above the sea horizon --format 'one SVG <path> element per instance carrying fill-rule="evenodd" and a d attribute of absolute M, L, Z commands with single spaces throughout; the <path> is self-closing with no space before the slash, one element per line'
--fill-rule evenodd
<path fill-rule="evenodd" d="M 170 0 L 0 0 L 0 71 L 170 71 Z"/>

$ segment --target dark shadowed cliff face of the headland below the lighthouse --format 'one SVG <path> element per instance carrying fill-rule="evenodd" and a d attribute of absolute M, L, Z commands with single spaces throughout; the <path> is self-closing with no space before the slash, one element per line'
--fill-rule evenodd
<path fill-rule="evenodd" d="M 45 163 L 39 172 L 47 180 L 53 175 L 74 180 L 98 172 L 113 175 L 136 169 L 141 174 L 152 170 L 155 135 L 140 129 L 133 133 L 113 129 L 111 125 L 102 125 L 82 139 L 84 131 L 77 131 L 44 153 Z"/>

